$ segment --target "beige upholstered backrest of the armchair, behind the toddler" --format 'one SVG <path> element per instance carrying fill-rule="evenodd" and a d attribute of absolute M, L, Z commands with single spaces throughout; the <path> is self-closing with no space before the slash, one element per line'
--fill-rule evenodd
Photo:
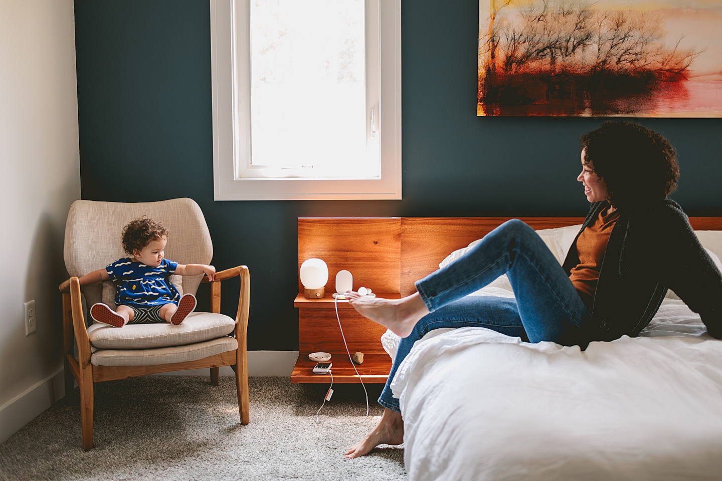
<path fill-rule="evenodd" d="M 80 277 L 128 257 L 123 252 L 123 227 L 133 219 L 148 216 L 170 231 L 165 257 L 181 264 L 209 264 L 213 257 L 211 235 L 201 208 L 192 199 L 160 202 L 121 203 L 76 200 L 65 226 L 65 266 Z M 172 275 L 171 281 L 183 293 L 196 294 L 203 275 Z M 114 306 L 116 288 L 111 281 L 83 286 L 88 305 L 100 302 Z"/>

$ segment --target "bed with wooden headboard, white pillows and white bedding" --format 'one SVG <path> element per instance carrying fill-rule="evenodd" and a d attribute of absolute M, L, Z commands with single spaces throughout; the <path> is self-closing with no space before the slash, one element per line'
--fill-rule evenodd
<path fill-rule="evenodd" d="M 326 292 L 348 269 L 355 288 L 406 296 L 414 281 L 507 220 L 299 219 L 299 267 L 309 257 L 325 260 Z M 521 220 L 561 262 L 583 218 Z M 722 218 L 690 223 L 719 262 Z M 504 277 L 472 295 L 488 294 L 513 296 Z M 347 335 L 393 357 L 398 337 L 387 332 L 379 343 L 383 329 L 349 311 L 341 312 Z M 333 321 L 319 332 L 338 332 Z M 722 341 L 671 292 L 640 336 L 583 352 L 480 328 L 432 331 L 402 364 L 393 391 L 411 481 L 722 480 Z"/>

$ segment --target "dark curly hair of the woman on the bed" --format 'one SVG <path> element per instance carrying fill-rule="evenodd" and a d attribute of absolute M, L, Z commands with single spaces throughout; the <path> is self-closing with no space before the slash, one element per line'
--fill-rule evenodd
<path fill-rule="evenodd" d="M 605 122 L 580 141 L 585 162 L 606 182 L 615 208 L 661 200 L 677 188 L 677 152 L 655 131 L 638 123 Z"/>

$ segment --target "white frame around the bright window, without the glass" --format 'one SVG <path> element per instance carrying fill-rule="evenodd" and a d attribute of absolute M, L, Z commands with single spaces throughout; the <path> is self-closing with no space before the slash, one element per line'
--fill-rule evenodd
<path fill-rule="evenodd" d="M 401 199 L 401 0 L 377 1 L 381 175 L 337 180 L 238 176 L 251 155 L 248 0 L 210 0 L 215 200 Z"/>

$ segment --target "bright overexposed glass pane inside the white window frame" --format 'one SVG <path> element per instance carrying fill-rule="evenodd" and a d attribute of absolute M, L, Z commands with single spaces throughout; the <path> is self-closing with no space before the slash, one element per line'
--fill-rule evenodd
<path fill-rule="evenodd" d="M 378 144 L 367 151 L 365 2 L 255 0 L 250 18 L 248 167 L 265 177 L 378 177 Z"/>

